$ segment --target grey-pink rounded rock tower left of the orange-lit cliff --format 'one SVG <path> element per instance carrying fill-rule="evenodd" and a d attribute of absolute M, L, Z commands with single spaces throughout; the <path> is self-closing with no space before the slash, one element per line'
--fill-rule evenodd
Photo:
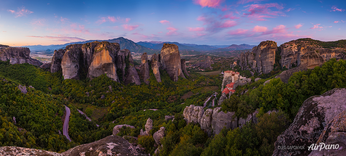
<path fill-rule="evenodd" d="M 61 68 L 64 79 L 80 79 L 80 55 L 82 44 L 66 46 L 66 52 L 61 60 Z"/>

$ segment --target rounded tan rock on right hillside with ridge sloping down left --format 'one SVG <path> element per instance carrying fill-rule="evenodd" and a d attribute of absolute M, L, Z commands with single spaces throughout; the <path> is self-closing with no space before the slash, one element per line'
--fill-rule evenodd
<path fill-rule="evenodd" d="M 275 76 L 275 78 L 280 78 L 282 82 L 288 83 L 288 79 L 293 75 L 294 72 L 313 69 L 316 66 L 321 66 L 324 62 L 324 58 L 317 52 L 306 52 L 303 56 L 300 57 L 300 64 L 298 65 L 298 67 L 285 70 L 279 75 Z"/>

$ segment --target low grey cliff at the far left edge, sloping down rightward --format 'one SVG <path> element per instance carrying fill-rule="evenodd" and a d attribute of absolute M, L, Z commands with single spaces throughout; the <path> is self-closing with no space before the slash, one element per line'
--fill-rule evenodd
<path fill-rule="evenodd" d="M 0 49 L 0 60 L 10 60 L 10 64 L 28 63 L 35 66 L 41 66 L 42 62 L 30 57 L 29 48 L 21 47 L 4 47 Z"/>

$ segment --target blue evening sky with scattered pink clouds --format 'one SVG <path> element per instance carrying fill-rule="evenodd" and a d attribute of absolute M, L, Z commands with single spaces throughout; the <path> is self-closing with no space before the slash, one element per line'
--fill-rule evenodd
<path fill-rule="evenodd" d="M 281 45 L 346 39 L 345 0 L 1 0 L 0 44 L 134 42 Z"/>

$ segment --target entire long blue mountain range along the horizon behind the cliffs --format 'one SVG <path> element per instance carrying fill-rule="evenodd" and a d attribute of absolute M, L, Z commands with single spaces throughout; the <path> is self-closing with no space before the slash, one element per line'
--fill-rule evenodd
<path fill-rule="evenodd" d="M 196 44 L 188 44 L 188 43 L 178 43 L 178 42 L 162 42 L 162 41 L 140 41 L 135 43 L 134 41 L 131 41 L 129 39 L 119 37 L 115 39 L 110 40 L 87 40 L 87 41 L 80 41 L 80 42 L 71 42 L 66 43 L 64 45 L 48 45 L 48 46 L 42 46 L 42 45 L 34 45 L 34 46 L 23 46 L 30 48 L 31 50 L 47 50 L 50 49 L 52 51 L 58 50 L 58 49 L 65 49 L 66 46 L 72 45 L 72 44 L 84 44 L 88 42 L 93 41 L 108 41 L 111 43 L 119 43 L 120 49 L 128 49 L 131 52 L 134 53 L 144 53 L 147 52 L 148 54 L 157 53 L 159 50 L 161 50 L 164 43 L 169 44 L 175 44 L 179 47 L 179 50 L 186 50 L 186 51 L 230 51 L 230 50 L 244 50 L 244 49 L 252 49 L 254 45 L 196 45 Z"/>

